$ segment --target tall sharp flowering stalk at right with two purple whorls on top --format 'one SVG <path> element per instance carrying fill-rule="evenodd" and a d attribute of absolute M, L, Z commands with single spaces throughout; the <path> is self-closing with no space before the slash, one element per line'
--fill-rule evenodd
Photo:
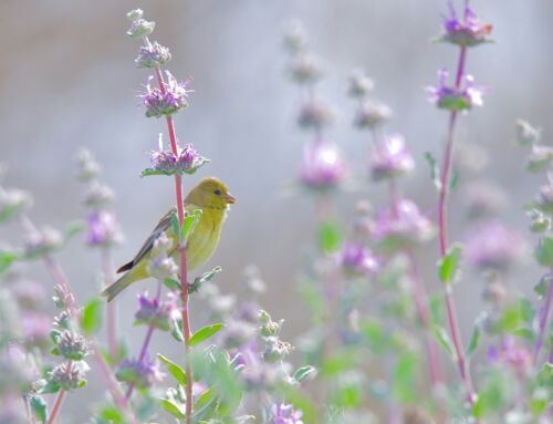
<path fill-rule="evenodd" d="M 457 267 L 456 263 L 458 261 L 459 251 L 458 249 L 449 250 L 447 234 L 447 197 L 451 185 L 455 132 L 458 116 L 461 112 L 467 112 L 473 106 L 480 106 L 482 104 L 482 91 L 474 85 L 472 76 L 467 75 L 465 71 L 467 52 L 471 46 L 488 42 L 492 27 L 479 21 L 469 4 L 469 0 L 465 1 L 463 12 L 460 18 L 457 15 L 451 0 L 449 1 L 449 9 L 450 14 L 445 18 L 444 34 L 439 40 L 459 48 L 455 83 L 452 86 L 448 85 L 447 71 L 440 71 L 438 86 L 429 89 L 429 100 L 435 103 L 437 107 L 449 111 L 447 142 L 441 164 L 441 180 L 439 184 L 438 200 L 439 252 L 441 256 L 440 279 L 445 285 L 444 299 L 449 332 L 455 347 L 457 366 L 465 384 L 467 400 L 473 405 L 477 400 L 477 394 L 472 385 L 461 337 L 459 334 L 459 324 L 451 286 L 456 271 L 453 268 Z"/>

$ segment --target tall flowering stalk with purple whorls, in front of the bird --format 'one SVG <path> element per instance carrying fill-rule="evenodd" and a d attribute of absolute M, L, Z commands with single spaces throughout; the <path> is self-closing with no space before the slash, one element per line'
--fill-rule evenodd
<path fill-rule="evenodd" d="M 131 21 L 128 35 L 143 39 L 144 45 L 140 48 L 136 59 L 138 68 L 153 69 L 154 75 L 148 79 L 146 92 L 140 96 L 146 107 L 147 117 L 165 116 L 167 131 L 169 134 L 170 152 L 163 151 L 163 145 L 159 146 L 159 152 L 154 152 L 152 156 L 153 168 L 146 169 L 143 175 L 174 175 L 175 178 L 175 197 L 177 204 L 178 228 L 181 229 L 185 224 L 185 205 L 182 199 L 182 179 L 184 174 L 194 173 L 207 159 L 196 155 L 196 151 L 191 145 L 181 148 L 178 144 L 175 133 L 175 124 L 173 114 L 188 106 L 188 81 L 180 82 L 169 71 L 165 72 L 165 77 L 161 72 L 161 65 L 170 60 L 170 53 L 167 48 L 161 46 L 157 42 L 150 42 L 148 35 L 154 31 L 155 23 L 143 19 L 143 11 L 137 9 L 127 13 Z M 152 85 L 152 81 L 157 81 L 157 87 Z M 187 258 L 186 246 L 182 231 L 179 230 L 179 271 L 180 271 L 180 299 L 181 299 L 181 321 L 182 337 L 185 344 L 185 372 L 186 372 L 186 423 L 191 422 L 192 414 L 192 369 L 190 364 L 190 319 L 188 310 L 188 282 L 187 282 Z M 160 290 L 156 298 L 159 302 Z M 143 353 L 140 354 L 143 363 L 146 358 L 146 349 L 152 337 L 153 327 L 148 329 Z M 129 395 L 129 393 L 127 393 Z"/>

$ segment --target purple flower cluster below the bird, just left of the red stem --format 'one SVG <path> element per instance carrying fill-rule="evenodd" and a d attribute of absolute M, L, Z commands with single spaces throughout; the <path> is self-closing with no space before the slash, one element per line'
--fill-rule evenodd
<path fill-rule="evenodd" d="M 161 331 L 169 331 L 171 322 L 178 316 L 177 298 L 168 293 L 165 301 L 148 299 L 148 292 L 138 296 L 139 309 L 135 313 L 135 325 L 152 325 Z"/>

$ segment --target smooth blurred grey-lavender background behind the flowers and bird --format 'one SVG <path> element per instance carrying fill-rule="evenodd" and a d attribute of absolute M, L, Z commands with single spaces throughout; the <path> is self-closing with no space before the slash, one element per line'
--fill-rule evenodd
<path fill-rule="evenodd" d="M 493 23 L 497 43 L 470 51 L 468 72 L 488 93 L 483 108 L 461 118 L 459 136 L 461 144 L 477 147 L 473 161 L 486 159 L 481 176 L 510 194 L 503 221 L 524 231 L 521 206 L 533 197 L 540 179 L 524 172 L 523 155 L 512 143 L 513 122 L 523 117 L 542 126 L 545 138 L 553 132 L 553 55 L 546 50 L 553 40 L 553 2 L 473 6 L 482 20 Z M 441 156 L 446 114 L 427 102 L 424 87 L 436 83 L 439 68 L 452 69 L 457 61 L 456 49 L 429 42 L 440 33 L 446 1 L 2 0 L 0 162 L 8 166 L 3 184 L 33 193 L 30 215 L 36 224 L 63 227 L 85 215 L 74 157 L 81 146 L 90 148 L 103 166 L 104 182 L 117 193 L 115 208 L 126 240 L 114 251 L 116 265 L 135 254 L 174 201 L 173 182 L 139 178 L 148 166 L 147 152 L 157 147 L 158 133 L 166 128 L 163 120 L 145 118 L 138 106 L 137 94 L 148 73 L 136 69 L 138 43 L 125 34 L 125 13 L 134 8 L 157 22 L 153 39 L 170 48 L 171 72 L 179 79 L 194 76 L 195 93 L 190 107 L 177 115 L 177 134 L 211 163 L 185 178 L 185 190 L 200 177 L 215 175 L 238 198 L 207 267 L 220 265 L 223 273 L 217 283 L 232 292 L 244 267 L 259 266 L 269 286 L 264 307 L 286 320 L 284 338 L 293 339 L 309 325 L 295 282 L 315 228 L 312 199 L 284 189 L 298 174 L 309 135 L 295 125 L 299 92 L 286 81 L 283 23 L 290 18 L 303 21 L 312 51 L 323 60 L 320 87 L 338 111 L 327 136 L 343 147 L 356 177 L 365 184 L 368 141 L 352 127 L 355 104 L 346 90 L 351 70 L 361 66 L 375 80 L 375 95 L 394 110 L 387 128 L 404 134 L 417 158 L 405 193 L 432 214 L 436 194 L 422 156 Z M 365 187 L 338 196 L 344 217 L 367 193 L 373 204 L 386 199 L 385 187 Z M 452 239 L 462 237 L 462 197 L 453 196 Z M 13 227 L 1 227 L 0 240 L 21 242 Z M 84 300 L 98 290 L 100 259 L 96 250 L 81 246 L 82 237 L 73 240 L 61 260 Z M 429 287 L 436 285 L 435 252 L 432 245 L 421 257 Z M 41 267 L 31 272 L 51 283 Z M 539 277 L 531 263 L 518 275 L 515 283 L 524 291 Z M 456 297 L 467 334 L 479 308 L 481 281 L 470 273 L 465 277 Z M 132 352 L 144 332 L 132 327 L 135 294 L 150 285 L 137 285 L 119 303 L 119 331 Z M 198 309 L 192 306 L 192 317 L 201 314 Z M 155 343 L 168 356 L 180 348 L 166 334 L 157 334 Z M 92 379 L 93 389 L 96 383 Z M 76 417 L 87 415 L 75 403 L 69 407 L 75 409 Z"/>

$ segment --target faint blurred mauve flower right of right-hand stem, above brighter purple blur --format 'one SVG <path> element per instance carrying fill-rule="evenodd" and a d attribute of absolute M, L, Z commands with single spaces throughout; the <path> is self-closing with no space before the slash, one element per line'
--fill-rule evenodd
<path fill-rule="evenodd" d="M 505 192 L 486 180 L 470 183 L 465 190 L 465 204 L 470 218 L 494 216 L 508 204 Z"/>

